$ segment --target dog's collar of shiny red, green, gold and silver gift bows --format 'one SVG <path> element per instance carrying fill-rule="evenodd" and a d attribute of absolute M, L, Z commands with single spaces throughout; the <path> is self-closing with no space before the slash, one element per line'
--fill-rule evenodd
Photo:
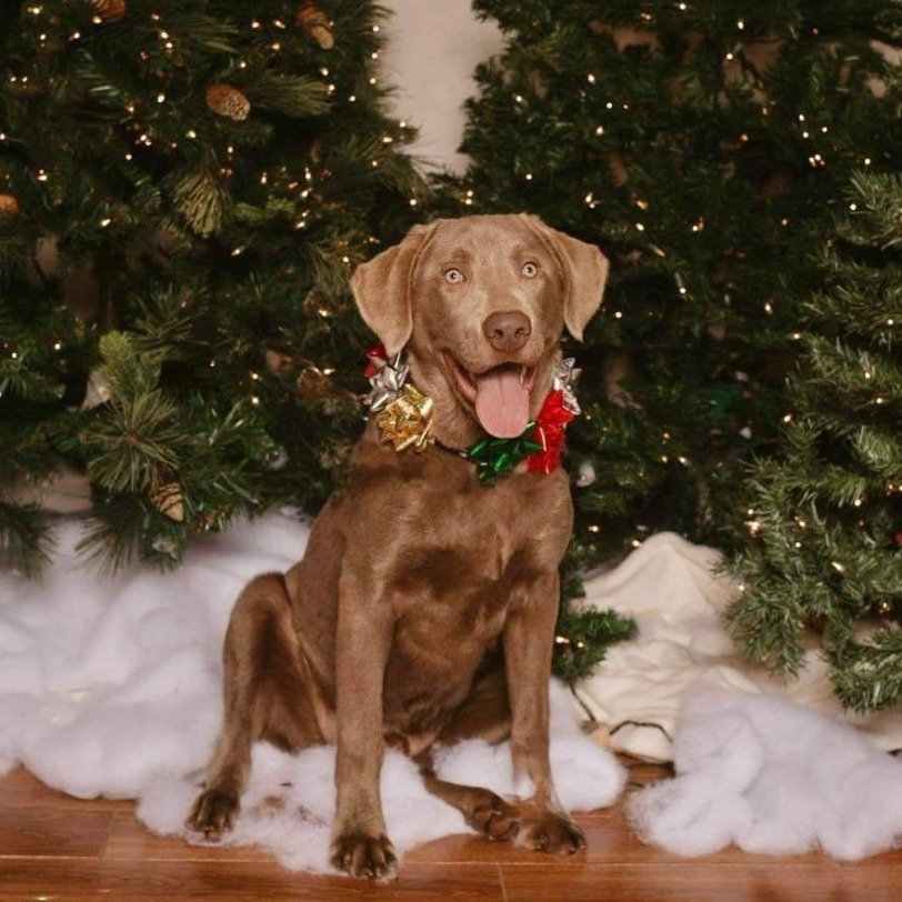
<path fill-rule="evenodd" d="M 391 442 L 395 451 L 412 448 L 420 453 L 434 444 L 474 463 L 479 481 L 492 485 L 498 478 L 510 475 L 523 462 L 531 473 L 550 473 L 560 465 L 564 430 L 580 413 L 573 393 L 573 383 L 579 377 L 574 363 L 573 358 L 567 358 L 554 368 L 551 391 L 539 415 L 520 435 L 514 439 L 487 435 L 465 449 L 452 448 L 430 434 L 434 413 L 432 399 L 407 381 L 410 368 L 402 362 L 401 354 L 389 360 L 382 345 L 367 352 L 363 374 L 370 380 L 370 393 L 363 403 L 377 414 L 382 441 Z"/>

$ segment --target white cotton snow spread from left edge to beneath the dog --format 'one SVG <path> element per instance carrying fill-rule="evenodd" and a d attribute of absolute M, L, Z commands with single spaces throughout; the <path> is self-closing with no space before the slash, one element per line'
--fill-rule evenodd
<path fill-rule="evenodd" d="M 188 840 L 183 821 L 221 720 L 229 612 L 252 575 L 294 563 L 308 533 L 293 515 L 270 514 L 193 544 L 172 573 L 136 567 L 102 578 L 77 557 L 81 529 L 68 522 L 42 582 L 0 573 L 0 773 L 21 763 L 72 795 L 137 799 L 151 830 Z M 559 795 L 571 810 L 610 804 L 622 768 L 581 734 L 565 690 L 553 684 L 552 700 Z M 444 766 L 511 790 L 507 744 L 467 743 Z M 227 842 L 267 848 L 291 869 L 328 870 L 333 772 L 332 748 L 290 755 L 258 744 Z M 385 754 L 382 799 L 399 854 L 467 831 L 395 752 Z"/>

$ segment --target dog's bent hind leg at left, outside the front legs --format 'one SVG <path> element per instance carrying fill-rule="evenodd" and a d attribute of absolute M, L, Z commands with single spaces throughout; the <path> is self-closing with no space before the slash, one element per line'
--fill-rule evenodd
<path fill-rule="evenodd" d="M 323 741 L 315 685 L 294 631 L 280 573 L 253 579 L 235 602 L 225 633 L 223 725 L 203 791 L 186 825 L 208 840 L 231 829 L 250 771 L 251 746 L 287 749 Z"/>

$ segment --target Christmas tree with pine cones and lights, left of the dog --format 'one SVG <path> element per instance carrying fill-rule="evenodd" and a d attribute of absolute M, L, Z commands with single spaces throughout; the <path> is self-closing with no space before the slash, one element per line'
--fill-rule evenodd
<path fill-rule="evenodd" d="M 315 509 L 360 430 L 348 275 L 425 192 L 384 110 L 381 9 L 0 16 L 0 552 L 39 567 L 39 490 L 63 463 L 113 563 Z"/>

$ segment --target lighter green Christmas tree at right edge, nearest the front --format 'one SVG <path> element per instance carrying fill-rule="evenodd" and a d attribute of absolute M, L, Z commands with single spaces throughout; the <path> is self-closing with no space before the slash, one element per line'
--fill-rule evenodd
<path fill-rule="evenodd" d="M 780 453 L 756 463 L 730 622 L 779 672 L 819 637 L 840 699 L 902 700 L 902 178 L 861 173 L 823 262 Z"/>

